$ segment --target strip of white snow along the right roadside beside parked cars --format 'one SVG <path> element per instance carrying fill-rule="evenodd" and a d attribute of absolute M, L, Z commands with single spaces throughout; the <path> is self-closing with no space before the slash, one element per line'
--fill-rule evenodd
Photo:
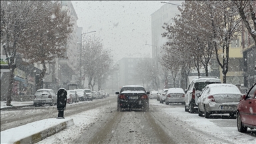
<path fill-rule="evenodd" d="M 183 105 L 171 108 L 171 104 L 161 104 L 156 100 L 152 100 L 150 103 L 157 107 L 163 107 L 162 110 L 165 111 L 167 115 L 177 115 L 177 119 L 191 125 L 195 129 L 204 131 L 209 135 L 227 139 L 227 141 L 230 141 L 231 143 L 256 143 L 256 135 L 253 137 L 237 131 L 236 119 L 205 119 L 205 117 L 199 117 L 197 113 L 185 112 Z M 168 107 L 170 107 L 170 109 L 168 109 Z M 248 131 L 251 130 L 248 129 Z M 253 133 L 256 133 L 256 129 L 254 129 Z"/>

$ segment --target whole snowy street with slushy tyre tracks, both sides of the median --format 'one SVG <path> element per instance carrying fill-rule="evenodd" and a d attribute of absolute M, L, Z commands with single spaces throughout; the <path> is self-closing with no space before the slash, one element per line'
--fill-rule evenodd
<path fill-rule="evenodd" d="M 81 106 L 83 111 L 71 114 L 71 109 L 76 109 L 76 105 Z M 93 105 L 95 107 L 90 109 L 89 106 Z M 47 109 L 49 107 L 1 111 L 1 129 L 2 125 L 7 126 L 2 123 L 2 119 L 21 117 L 21 114 L 31 117 L 32 113 L 36 115 L 35 112 Z M 51 109 L 51 117 L 55 117 L 57 110 L 54 106 Z M 44 118 L 49 117 L 45 115 Z M 156 99 L 150 100 L 149 112 L 118 112 L 116 98 L 113 96 L 74 103 L 67 105 L 65 118 L 72 118 L 75 125 L 39 143 L 256 143 L 256 131 L 248 129 L 247 133 L 239 133 L 236 119 L 225 115 L 223 118 L 217 115 L 205 119 L 197 113 L 185 112 L 184 105 L 165 105 Z M 19 124 L 22 125 L 21 123 Z"/>

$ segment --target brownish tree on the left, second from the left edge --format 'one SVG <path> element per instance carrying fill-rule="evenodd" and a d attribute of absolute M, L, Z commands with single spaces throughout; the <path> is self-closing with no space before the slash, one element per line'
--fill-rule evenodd
<path fill-rule="evenodd" d="M 39 83 L 36 89 L 43 87 L 43 77 L 47 71 L 47 63 L 54 63 L 56 58 L 66 58 L 67 37 L 72 32 L 72 23 L 67 11 L 61 10 L 61 4 L 57 1 L 45 1 L 41 5 L 47 5 L 45 15 L 39 21 L 35 21 L 25 31 L 24 43 L 19 52 L 29 63 L 43 65 L 39 75 Z M 49 9 L 51 8 L 51 9 Z"/>

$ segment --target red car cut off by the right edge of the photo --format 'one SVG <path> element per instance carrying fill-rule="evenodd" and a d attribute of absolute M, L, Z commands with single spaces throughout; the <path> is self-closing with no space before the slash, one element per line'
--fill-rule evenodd
<path fill-rule="evenodd" d="M 237 130 L 245 133 L 248 127 L 256 129 L 256 83 L 241 96 L 237 106 Z"/>

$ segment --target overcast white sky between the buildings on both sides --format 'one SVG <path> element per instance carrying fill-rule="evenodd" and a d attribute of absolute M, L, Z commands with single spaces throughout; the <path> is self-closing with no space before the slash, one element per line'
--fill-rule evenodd
<path fill-rule="evenodd" d="M 168 2 L 168 1 L 165 1 Z M 151 14 L 161 1 L 72 1 L 77 26 L 102 39 L 114 62 L 123 57 L 151 57 Z"/>

